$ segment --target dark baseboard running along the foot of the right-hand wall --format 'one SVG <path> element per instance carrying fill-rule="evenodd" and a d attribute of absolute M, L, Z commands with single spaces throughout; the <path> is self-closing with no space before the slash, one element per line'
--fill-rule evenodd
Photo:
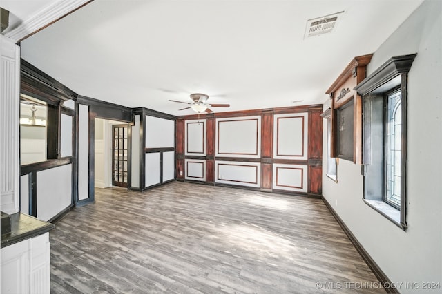
<path fill-rule="evenodd" d="M 387 275 L 385 275 L 385 273 L 378 266 L 378 264 L 376 264 L 376 262 L 374 262 L 373 258 L 368 254 L 367 251 L 365 251 L 362 244 L 358 241 L 358 239 L 356 239 L 356 237 L 353 235 L 352 231 L 350 231 L 350 229 L 347 227 L 345 222 L 343 222 L 343 220 L 340 218 L 338 213 L 336 213 L 336 211 L 333 209 L 332 205 L 329 204 L 329 202 L 327 201 L 327 199 L 324 198 L 324 196 L 322 197 L 322 200 L 325 203 L 325 206 L 332 213 L 332 215 L 334 216 L 334 218 L 336 219 L 336 221 L 338 222 L 340 227 L 343 229 L 344 233 L 347 235 L 349 240 L 353 243 L 354 247 L 356 248 L 356 251 L 358 251 L 358 253 L 361 255 L 363 260 L 365 260 L 365 262 L 367 262 L 367 265 L 373 271 L 374 275 L 376 275 L 379 282 L 381 282 L 381 284 L 388 284 L 391 286 L 391 287 L 385 288 L 385 291 L 387 293 L 399 293 L 398 289 L 394 288 L 394 284 L 392 284 L 392 282 L 387 277 Z"/>

